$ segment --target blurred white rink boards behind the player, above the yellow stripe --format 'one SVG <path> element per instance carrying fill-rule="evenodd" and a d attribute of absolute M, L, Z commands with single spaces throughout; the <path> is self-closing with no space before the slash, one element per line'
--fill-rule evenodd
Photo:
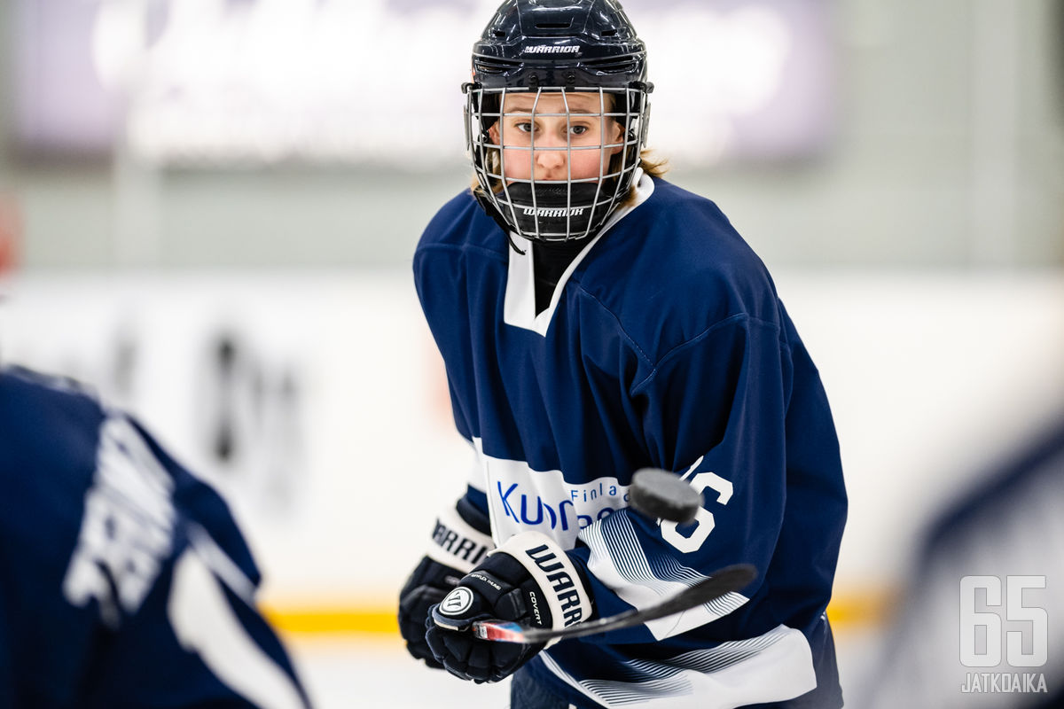
<path fill-rule="evenodd" d="M 1064 416 L 1064 275 L 778 285 L 842 440 L 838 588 L 893 585 L 932 510 Z M 463 490 L 470 452 L 405 271 L 33 275 L 0 298 L 0 359 L 99 387 L 216 483 L 273 605 L 390 602 Z"/>

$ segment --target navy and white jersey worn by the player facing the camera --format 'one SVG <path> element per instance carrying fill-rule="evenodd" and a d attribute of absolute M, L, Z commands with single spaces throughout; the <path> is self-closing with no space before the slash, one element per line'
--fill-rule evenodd
<path fill-rule="evenodd" d="M 577 706 L 842 706 L 824 614 L 846 519 L 838 442 L 764 265 L 715 204 L 646 175 L 542 311 L 537 244 L 516 242 L 523 254 L 465 192 L 414 257 L 477 452 L 467 496 L 496 543 L 554 537 L 602 617 L 731 563 L 760 572 L 678 617 L 553 645 L 532 671 Z M 644 467 L 703 491 L 696 524 L 627 509 Z"/>

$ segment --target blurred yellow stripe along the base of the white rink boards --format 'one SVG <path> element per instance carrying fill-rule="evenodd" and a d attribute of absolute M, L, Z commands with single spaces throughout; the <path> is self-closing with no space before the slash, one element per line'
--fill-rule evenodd
<path fill-rule="evenodd" d="M 828 618 L 836 629 L 885 625 L 893 614 L 896 595 L 883 591 L 838 595 L 828 606 Z M 278 606 L 263 614 L 286 634 L 398 634 L 396 609 L 384 606 Z"/>

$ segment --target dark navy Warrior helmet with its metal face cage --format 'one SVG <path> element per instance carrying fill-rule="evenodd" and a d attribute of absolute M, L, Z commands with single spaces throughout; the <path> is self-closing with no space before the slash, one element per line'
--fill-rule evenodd
<path fill-rule="evenodd" d="M 477 173 L 476 191 L 481 206 L 508 233 L 528 239 L 564 241 L 595 235 L 613 210 L 628 197 L 646 144 L 649 94 L 646 45 L 639 39 L 616 0 L 505 0 L 484 29 L 472 50 L 472 82 L 466 92 L 466 148 Z M 541 97 L 560 94 L 569 120 L 568 100 L 573 92 L 598 97 L 601 123 L 615 121 L 619 138 L 608 142 L 601 131 L 598 174 L 566 180 L 504 178 L 506 151 L 514 150 L 500 136 L 500 118 L 506 97 L 534 97 L 518 112 L 535 122 Z M 523 112 L 523 113 L 521 113 Z M 586 113 L 582 114 L 586 116 Z M 492 128 L 500 124 L 493 137 Z M 567 132 L 568 133 L 568 132 Z M 616 132 L 615 132 L 616 133 Z M 576 148 L 586 150 L 587 147 Z M 537 147 L 535 138 L 523 148 L 539 153 L 566 151 L 571 166 L 571 136 L 562 147 Z M 530 156 L 530 161 L 531 161 Z"/>

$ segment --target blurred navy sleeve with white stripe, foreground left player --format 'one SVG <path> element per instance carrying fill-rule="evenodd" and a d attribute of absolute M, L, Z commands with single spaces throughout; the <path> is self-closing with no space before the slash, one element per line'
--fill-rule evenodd
<path fill-rule="evenodd" d="M 193 523 L 115 631 L 83 706 L 304 709 L 292 662 L 247 577 Z"/>

